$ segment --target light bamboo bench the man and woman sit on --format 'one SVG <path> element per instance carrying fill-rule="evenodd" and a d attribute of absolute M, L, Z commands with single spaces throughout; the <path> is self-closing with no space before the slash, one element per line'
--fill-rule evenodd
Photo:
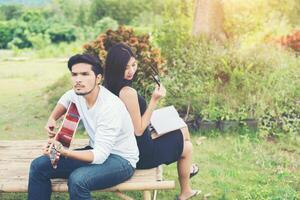
<path fill-rule="evenodd" d="M 30 163 L 41 155 L 44 144 L 45 140 L 0 141 L 0 193 L 27 192 Z M 72 148 L 86 144 L 86 139 L 75 139 Z M 68 191 L 65 179 L 51 181 L 52 191 Z M 160 166 L 148 170 L 136 170 L 130 180 L 101 191 L 115 192 L 117 196 L 125 200 L 132 198 L 123 194 L 123 191 L 143 191 L 144 200 L 150 200 L 156 199 L 157 190 L 173 188 L 175 188 L 175 181 L 163 180 Z"/>

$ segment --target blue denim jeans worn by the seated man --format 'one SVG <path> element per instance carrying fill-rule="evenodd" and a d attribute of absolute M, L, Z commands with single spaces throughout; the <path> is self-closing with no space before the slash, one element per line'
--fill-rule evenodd
<path fill-rule="evenodd" d="M 52 178 L 68 179 L 70 199 L 91 199 L 90 191 L 108 188 L 128 180 L 134 168 L 124 158 L 110 154 L 102 164 L 89 164 L 61 157 L 56 169 L 48 156 L 32 161 L 29 172 L 28 199 L 48 200 Z"/>

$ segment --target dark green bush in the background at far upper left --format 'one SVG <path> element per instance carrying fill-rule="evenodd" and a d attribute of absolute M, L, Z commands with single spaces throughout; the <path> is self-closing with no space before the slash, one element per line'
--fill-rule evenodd
<path fill-rule="evenodd" d="M 18 20 L 1 22 L 0 48 L 41 49 L 49 44 L 49 38 L 51 43 L 70 43 L 77 39 L 75 26 L 55 17 L 46 19 L 45 13 L 28 10 Z"/>

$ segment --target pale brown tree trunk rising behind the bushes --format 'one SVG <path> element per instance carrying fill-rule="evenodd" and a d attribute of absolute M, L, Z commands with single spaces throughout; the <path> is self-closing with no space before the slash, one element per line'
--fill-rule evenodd
<path fill-rule="evenodd" d="M 193 36 L 204 34 L 209 38 L 225 41 L 223 23 L 224 11 L 221 0 L 196 0 Z"/>

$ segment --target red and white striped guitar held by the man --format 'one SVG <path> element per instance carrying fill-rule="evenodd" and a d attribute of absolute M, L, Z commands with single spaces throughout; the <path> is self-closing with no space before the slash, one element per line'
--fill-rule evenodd
<path fill-rule="evenodd" d="M 75 103 L 71 102 L 63 119 L 62 125 L 56 133 L 54 139 L 59 141 L 64 147 L 69 148 L 79 121 L 80 116 L 77 107 Z M 52 144 L 50 146 L 50 160 L 53 168 L 57 167 L 59 158 L 60 153 L 56 151 L 54 145 Z"/>

